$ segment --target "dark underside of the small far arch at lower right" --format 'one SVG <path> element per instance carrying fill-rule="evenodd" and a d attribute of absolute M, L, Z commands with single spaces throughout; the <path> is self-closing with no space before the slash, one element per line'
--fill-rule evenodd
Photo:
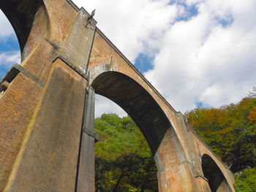
<path fill-rule="evenodd" d="M 215 161 L 207 154 L 202 156 L 203 174 L 208 180 L 211 192 L 230 192 L 230 185 Z"/>

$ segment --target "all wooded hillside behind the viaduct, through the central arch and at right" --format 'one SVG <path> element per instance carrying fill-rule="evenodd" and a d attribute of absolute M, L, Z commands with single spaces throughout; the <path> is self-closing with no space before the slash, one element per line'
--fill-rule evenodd
<path fill-rule="evenodd" d="M 236 191 L 256 192 L 256 88 L 238 104 L 186 112 L 197 134 L 235 173 Z M 158 191 L 157 167 L 131 118 L 95 120 L 96 191 Z"/>

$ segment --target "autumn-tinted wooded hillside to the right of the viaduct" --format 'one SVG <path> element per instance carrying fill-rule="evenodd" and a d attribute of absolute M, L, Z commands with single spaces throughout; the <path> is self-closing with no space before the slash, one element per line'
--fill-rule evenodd
<path fill-rule="evenodd" d="M 236 175 L 238 192 L 256 191 L 256 88 L 238 104 L 186 112 L 197 134 Z"/>

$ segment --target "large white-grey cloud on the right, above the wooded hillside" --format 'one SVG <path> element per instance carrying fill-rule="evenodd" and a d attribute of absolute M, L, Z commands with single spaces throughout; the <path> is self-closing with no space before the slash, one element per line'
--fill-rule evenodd
<path fill-rule="evenodd" d="M 198 15 L 165 33 L 146 77 L 176 110 L 191 110 L 197 101 L 206 107 L 237 102 L 255 85 L 256 4 L 240 4 L 203 2 Z M 230 25 L 217 22 L 232 21 L 230 15 Z"/>

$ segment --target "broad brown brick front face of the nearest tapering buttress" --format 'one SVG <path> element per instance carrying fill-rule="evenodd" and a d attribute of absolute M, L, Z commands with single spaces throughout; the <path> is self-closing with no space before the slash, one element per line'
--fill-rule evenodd
<path fill-rule="evenodd" d="M 54 62 L 3 191 L 75 191 L 86 84 Z"/>

